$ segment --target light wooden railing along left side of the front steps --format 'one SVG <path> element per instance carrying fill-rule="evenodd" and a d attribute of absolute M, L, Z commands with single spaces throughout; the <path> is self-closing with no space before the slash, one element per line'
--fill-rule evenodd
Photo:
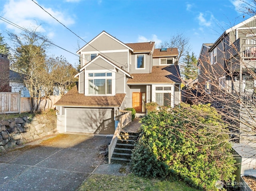
<path fill-rule="evenodd" d="M 120 110 L 121 115 L 118 117 L 118 124 L 116 127 L 116 131 L 114 132 L 114 136 L 111 140 L 111 143 L 108 145 L 108 163 L 111 163 L 111 157 L 114 152 L 114 149 L 116 147 L 116 142 L 118 140 L 118 136 L 120 135 L 120 132 L 124 126 L 126 126 L 128 123 L 132 122 L 132 112 L 131 111 L 125 111 Z"/>

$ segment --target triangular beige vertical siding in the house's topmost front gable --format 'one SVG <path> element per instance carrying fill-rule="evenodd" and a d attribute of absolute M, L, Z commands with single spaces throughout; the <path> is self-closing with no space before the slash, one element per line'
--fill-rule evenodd
<path fill-rule="evenodd" d="M 121 43 L 117 42 L 116 40 L 110 38 L 106 34 L 102 34 L 100 37 L 92 41 L 90 45 L 82 49 L 82 52 L 122 50 L 122 49 L 127 49 L 127 48 Z"/>

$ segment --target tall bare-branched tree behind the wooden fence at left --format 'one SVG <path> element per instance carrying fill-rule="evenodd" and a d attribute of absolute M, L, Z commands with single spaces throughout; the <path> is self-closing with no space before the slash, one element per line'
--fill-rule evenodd
<path fill-rule="evenodd" d="M 45 50 L 50 47 L 50 41 L 36 32 L 36 29 L 28 31 L 19 35 L 8 32 L 8 35 L 14 44 L 11 68 L 24 74 L 24 85 L 31 96 L 31 112 L 35 112 L 46 93 L 43 87 L 49 80 Z"/>

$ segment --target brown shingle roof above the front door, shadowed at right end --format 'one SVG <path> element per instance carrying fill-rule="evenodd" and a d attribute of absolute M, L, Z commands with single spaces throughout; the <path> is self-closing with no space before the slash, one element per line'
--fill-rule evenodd
<path fill-rule="evenodd" d="M 178 65 L 153 66 L 152 73 L 132 74 L 133 79 L 128 79 L 127 84 L 160 84 L 180 83 L 180 69 Z"/>

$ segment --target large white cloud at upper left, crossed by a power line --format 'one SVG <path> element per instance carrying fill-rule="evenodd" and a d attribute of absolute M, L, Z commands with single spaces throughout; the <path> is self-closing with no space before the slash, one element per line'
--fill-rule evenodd
<path fill-rule="evenodd" d="M 64 13 L 52 8 L 42 7 L 64 25 L 74 24 L 74 20 L 64 15 Z M 58 22 L 44 10 L 31 0 L 10 0 L 3 6 L 1 15 L 3 18 L 23 28 L 34 28 L 43 23 L 57 24 Z M 6 28 L 17 30 L 17 28 L 11 25 L 6 25 Z M 45 32 L 45 29 L 40 26 L 37 31 Z"/>

